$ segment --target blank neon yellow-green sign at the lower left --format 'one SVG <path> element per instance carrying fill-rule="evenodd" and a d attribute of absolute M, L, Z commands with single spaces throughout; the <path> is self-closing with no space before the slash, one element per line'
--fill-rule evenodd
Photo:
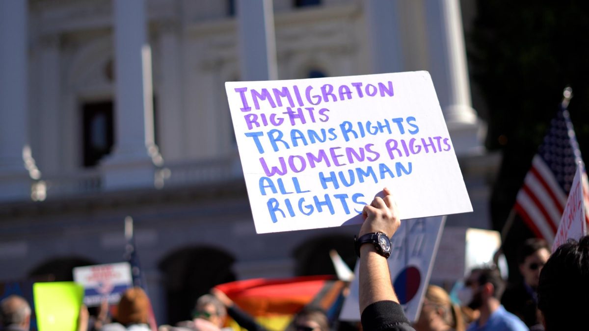
<path fill-rule="evenodd" d="M 37 326 L 41 331 L 75 331 L 84 289 L 74 282 L 33 284 Z"/>

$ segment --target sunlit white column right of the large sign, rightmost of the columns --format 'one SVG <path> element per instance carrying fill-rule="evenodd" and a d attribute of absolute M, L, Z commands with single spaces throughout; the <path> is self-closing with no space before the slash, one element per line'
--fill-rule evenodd
<path fill-rule="evenodd" d="M 459 0 L 426 0 L 429 71 L 456 153 L 478 148 Z"/>

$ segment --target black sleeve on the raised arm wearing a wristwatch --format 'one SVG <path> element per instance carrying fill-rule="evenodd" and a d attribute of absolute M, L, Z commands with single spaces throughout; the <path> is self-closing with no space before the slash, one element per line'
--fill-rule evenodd
<path fill-rule="evenodd" d="M 370 304 L 360 318 L 364 331 L 415 331 L 403 313 L 403 307 L 393 301 L 379 301 Z"/>

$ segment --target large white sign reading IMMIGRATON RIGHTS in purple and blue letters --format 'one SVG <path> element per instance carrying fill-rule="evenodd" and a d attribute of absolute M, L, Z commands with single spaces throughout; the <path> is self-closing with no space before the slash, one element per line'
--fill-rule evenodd
<path fill-rule="evenodd" d="M 472 211 L 428 72 L 225 87 L 257 233 L 360 224 L 383 187 L 402 219 Z"/>

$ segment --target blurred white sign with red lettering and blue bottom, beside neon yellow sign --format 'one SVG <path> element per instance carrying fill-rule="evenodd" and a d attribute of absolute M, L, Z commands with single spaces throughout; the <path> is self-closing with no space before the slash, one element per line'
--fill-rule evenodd
<path fill-rule="evenodd" d="M 74 282 L 84 286 L 86 306 L 100 306 L 104 299 L 117 304 L 123 292 L 133 286 L 131 266 L 121 262 L 75 267 Z"/>

